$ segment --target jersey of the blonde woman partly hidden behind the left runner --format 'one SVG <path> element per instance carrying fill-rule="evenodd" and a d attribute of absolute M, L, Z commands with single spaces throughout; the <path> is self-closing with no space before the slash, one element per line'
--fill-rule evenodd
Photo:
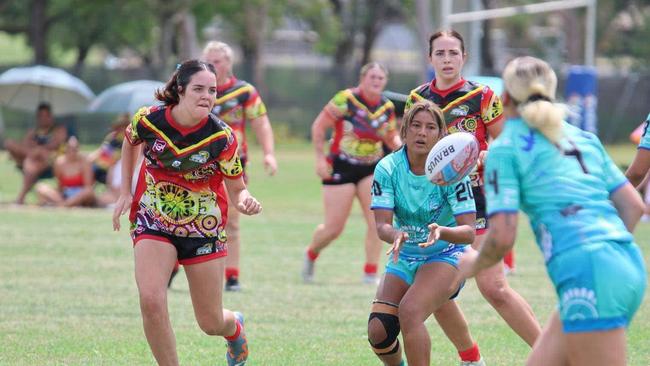
<path fill-rule="evenodd" d="M 241 145 L 239 155 L 247 159 L 246 121 L 265 115 L 266 106 L 254 86 L 234 76 L 217 87 L 217 95 L 212 113 L 232 128 Z"/>

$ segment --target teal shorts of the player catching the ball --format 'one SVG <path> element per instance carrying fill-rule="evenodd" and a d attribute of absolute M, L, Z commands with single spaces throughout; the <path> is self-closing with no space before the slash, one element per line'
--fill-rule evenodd
<path fill-rule="evenodd" d="M 465 253 L 465 247 L 465 245 L 450 244 L 449 247 L 442 252 L 426 257 L 409 257 L 400 255 L 397 263 L 394 263 L 392 260 L 388 261 L 386 264 L 386 273 L 401 278 L 406 282 L 406 284 L 411 286 L 415 280 L 415 274 L 418 269 L 427 263 L 443 262 L 458 268 L 458 261 L 460 260 L 460 257 L 462 257 L 463 253 Z"/>

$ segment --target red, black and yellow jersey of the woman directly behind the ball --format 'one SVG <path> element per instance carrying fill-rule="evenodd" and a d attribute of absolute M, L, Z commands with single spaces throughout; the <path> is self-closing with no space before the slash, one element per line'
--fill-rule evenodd
<path fill-rule="evenodd" d="M 449 133 L 460 131 L 473 134 L 479 141 L 481 151 L 487 150 L 487 126 L 503 119 L 503 105 L 499 97 L 487 86 L 473 81 L 461 79 L 451 88 L 439 90 L 435 87 L 434 79 L 411 91 L 406 109 L 424 99 L 442 109 Z M 474 185 L 482 185 L 481 175 L 482 168 L 470 175 Z"/>

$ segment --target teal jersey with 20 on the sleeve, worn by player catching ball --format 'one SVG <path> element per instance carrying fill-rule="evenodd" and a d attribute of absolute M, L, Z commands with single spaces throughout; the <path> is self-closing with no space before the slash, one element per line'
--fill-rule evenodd
<path fill-rule="evenodd" d="M 371 208 L 393 211 L 394 227 L 409 235 L 400 257 L 420 258 L 445 251 L 450 243 L 444 240 L 428 248 L 418 246 L 427 241 L 429 224 L 454 227 L 454 216 L 476 212 L 469 178 L 453 186 L 431 184 L 426 175 L 413 174 L 406 147 L 381 159 L 374 179 Z"/>

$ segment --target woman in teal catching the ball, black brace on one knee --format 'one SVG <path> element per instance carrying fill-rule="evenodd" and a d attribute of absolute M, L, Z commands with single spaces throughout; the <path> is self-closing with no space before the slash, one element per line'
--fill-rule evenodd
<path fill-rule="evenodd" d="M 400 331 L 408 364 L 430 364 L 424 321 L 432 313 L 458 350 L 461 365 L 483 365 L 463 313 L 450 300 L 462 286 L 458 260 L 475 235 L 471 182 L 466 177 L 454 186 L 436 186 L 424 174 L 429 150 L 446 131 L 440 108 L 429 101 L 415 103 L 400 131 L 405 146 L 375 169 L 371 208 L 377 234 L 393 246 L 372 304 L 368 340 L 386 365 L 403 363 Z"/>

